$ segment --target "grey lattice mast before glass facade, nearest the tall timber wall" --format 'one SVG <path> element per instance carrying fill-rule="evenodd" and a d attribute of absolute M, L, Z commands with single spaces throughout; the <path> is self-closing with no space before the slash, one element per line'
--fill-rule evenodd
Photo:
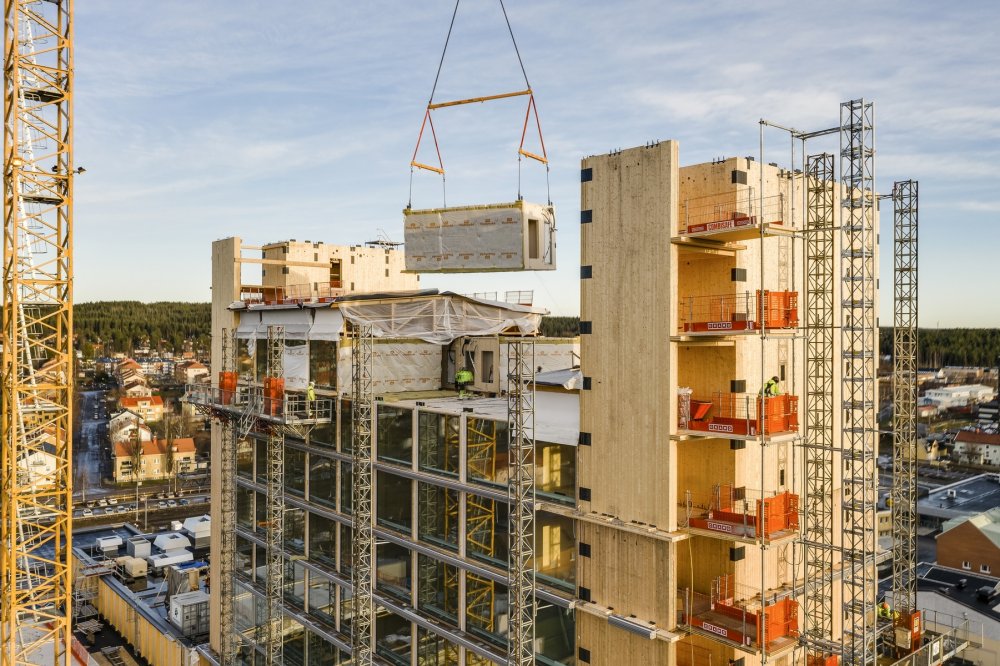
<path fill-rule="evenodd" d="M 535 343 L 507 343 L 510 500 L 510 637 L 507 663 L 535 663 Z"/>

